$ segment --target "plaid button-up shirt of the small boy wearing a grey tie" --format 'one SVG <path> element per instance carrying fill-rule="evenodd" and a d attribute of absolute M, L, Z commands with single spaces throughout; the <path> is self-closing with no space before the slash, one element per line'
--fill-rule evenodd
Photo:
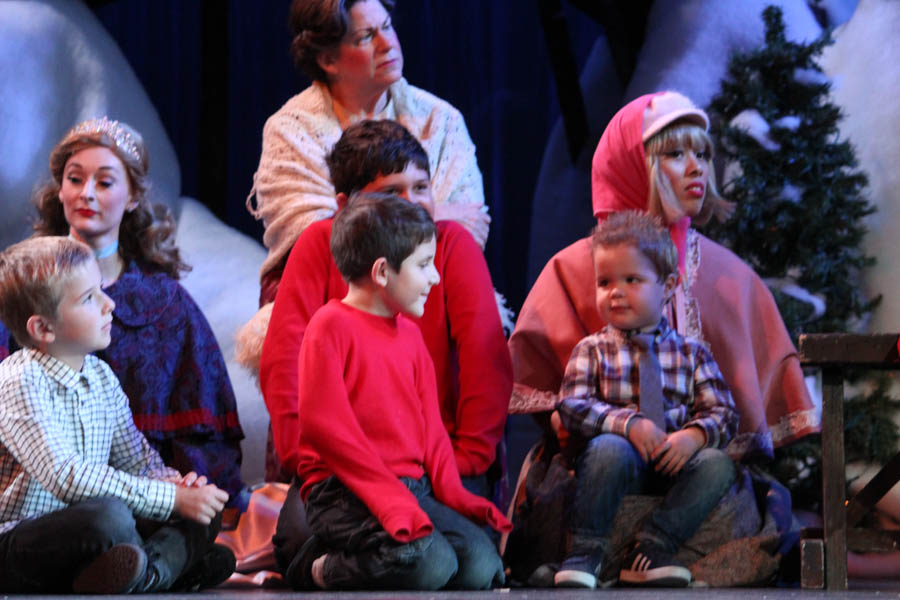
<path fill-rule="evenodd" d="M 707 446 L 724 448 L 737 432 L 739 415 L 712 354 L 699 340 L 679 335 L 665 318 L 653 333 L 662 368 L 666 432 L 699 427 Z M 640 353 L 628 332 L 611 325 L 575 346 L 557 406 L 569 433 L 627 437 L 629 422 L 641 416 Z"/>

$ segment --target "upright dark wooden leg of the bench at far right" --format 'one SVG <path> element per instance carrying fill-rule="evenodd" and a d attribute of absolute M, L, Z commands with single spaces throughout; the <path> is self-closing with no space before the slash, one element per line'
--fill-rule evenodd
<path fill-rule="evenodd" d="M 822 370 L 822 516 L 825 529 L 825 586 L 847 589 L 847 513 L 844 508 L 844 378 Z"/>

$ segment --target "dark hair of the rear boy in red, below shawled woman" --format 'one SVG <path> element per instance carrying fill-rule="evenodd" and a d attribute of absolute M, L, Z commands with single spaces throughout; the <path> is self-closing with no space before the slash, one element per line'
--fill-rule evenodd
<path fill-rule="evenodd" d="M 428 154 L 419 140 L 396 121 L 360 121 L 344 130 L 325 157 L 334 191 L 358 192 L 376 177 L 403 172 L 412 163 L 428 173 Z"/>

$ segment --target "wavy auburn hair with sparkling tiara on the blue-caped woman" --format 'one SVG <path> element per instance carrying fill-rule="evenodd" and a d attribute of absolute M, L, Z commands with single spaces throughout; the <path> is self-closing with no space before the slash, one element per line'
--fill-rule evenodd
<path fill-rule="evenodd" d="M 175 218 L 164 204 L 147 198 L 150 181 L 147 171 L 150 158 L 141 135 L 125 123 L 106 117 L 89 119 L 72 128 L 50 152 L 51 179 L 43 184 L 32 199 L 38 212 L 34 224 L 36 235 L 68 235 L 59 192 L 63 172 L 69 159 L 87 148 L 102 146 L 112 151 L 125 167 L 133 209 L 122 215 L 119 225 L 119 255 L 126 262 L 136 260 L 178 278 L 190 266 L 181 260 L 175 246 Z"/>

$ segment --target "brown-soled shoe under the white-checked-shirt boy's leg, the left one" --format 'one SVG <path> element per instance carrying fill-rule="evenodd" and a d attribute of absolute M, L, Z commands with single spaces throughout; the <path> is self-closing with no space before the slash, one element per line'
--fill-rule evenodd
<path fill-rule="evenodd" d="M 135 544 L 117 544 L 92 560 L 72 581 L 76 594 L 127 594 L 144 579 L 147 555 Z"/>

